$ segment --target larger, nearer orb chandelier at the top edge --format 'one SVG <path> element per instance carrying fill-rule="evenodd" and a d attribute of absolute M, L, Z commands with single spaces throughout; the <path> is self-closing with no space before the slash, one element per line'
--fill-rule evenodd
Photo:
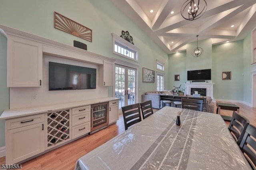
<path fill-rule="evenodd" d="M 206 9 L 207 9 L 206 1 L 201 0 L 201 2 L 203 2 L 203 4 L 201 3 L 200 8 L 199 8 L 200 0 L 197 0 L 197 3 L 195 1 L 196 0 L 187 0 L 182 5 L 180 13 L 184 19 L 190 20 L 190 21 L 196 20 L 196 19 L 200 18 L 202 15 L 204 15 L 204 13 L 206 12 Z"/>

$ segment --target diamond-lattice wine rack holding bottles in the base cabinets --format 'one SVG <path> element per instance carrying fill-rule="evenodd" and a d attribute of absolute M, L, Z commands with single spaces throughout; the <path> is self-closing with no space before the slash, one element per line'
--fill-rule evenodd
<path fill-rule="evenodd" d="M 70 138 L 70 109 L 47 113 L 47 147 Z"/>

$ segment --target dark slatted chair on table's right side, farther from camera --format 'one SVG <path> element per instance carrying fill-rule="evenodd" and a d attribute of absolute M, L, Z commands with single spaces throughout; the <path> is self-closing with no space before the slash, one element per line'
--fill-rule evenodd
<path fill-rule="evenodd" d="M 240 145 L 242 137 L 244 136 L 245 130 L 249 123 L 250 121 L 246 119 L 246 117 L 240 115 L 236 111 L 233 112 L 233 116 L 228 129 L 238 145 Z"/>

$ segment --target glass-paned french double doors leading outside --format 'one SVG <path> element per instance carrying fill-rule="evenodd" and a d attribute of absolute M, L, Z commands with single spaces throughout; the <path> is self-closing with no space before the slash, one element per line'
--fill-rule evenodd
<path fill-rule="evenodd" d="M 123 106 L 136 103 L 136 69 L 115 65 L 115 97 L 119 98 L 120 112 Z"/>

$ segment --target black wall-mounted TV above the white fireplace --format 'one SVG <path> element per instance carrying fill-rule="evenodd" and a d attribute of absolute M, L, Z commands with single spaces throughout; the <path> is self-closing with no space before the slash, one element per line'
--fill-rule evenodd
<path fill-rule="evenodd" d="M 211 69 L 188 71 L 188 80 L 210 80 Z"/>

